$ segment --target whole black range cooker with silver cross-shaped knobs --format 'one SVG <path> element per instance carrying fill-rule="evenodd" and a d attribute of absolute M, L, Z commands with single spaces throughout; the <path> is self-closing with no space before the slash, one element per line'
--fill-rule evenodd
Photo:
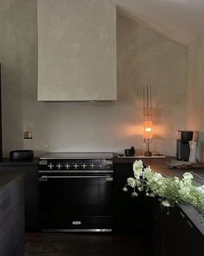
<path fill-rule="evenodd" d="M 44 154 L 39 181 L 42 231 L 112 231 L 112 153 Z"/>

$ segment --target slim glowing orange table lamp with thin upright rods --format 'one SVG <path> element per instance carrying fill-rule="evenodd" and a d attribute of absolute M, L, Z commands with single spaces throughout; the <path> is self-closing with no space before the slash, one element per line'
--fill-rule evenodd
<path fill-rule="evenodd" d="M 151 156 L 150 142 L 152 140 L 152 108 L 151 87 L 143 87 L 143 139 L 146 144 L 145 156 Z"/>

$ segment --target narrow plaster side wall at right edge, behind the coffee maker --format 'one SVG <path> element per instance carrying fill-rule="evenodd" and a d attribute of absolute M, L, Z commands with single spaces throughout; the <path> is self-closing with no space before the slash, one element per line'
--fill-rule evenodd
<path fill-rule="evenodd" d="M 188 129 L 199 131 L 198 157 L 204 161 L 204 36 L 188 47 Z"/>

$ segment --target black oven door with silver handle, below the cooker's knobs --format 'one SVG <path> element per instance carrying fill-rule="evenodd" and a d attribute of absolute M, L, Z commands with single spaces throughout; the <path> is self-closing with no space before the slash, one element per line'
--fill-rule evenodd
<path fill-rule="evenodd" d="M 41 174 L 41 229 L 112 231 L 112 174 Z"/>

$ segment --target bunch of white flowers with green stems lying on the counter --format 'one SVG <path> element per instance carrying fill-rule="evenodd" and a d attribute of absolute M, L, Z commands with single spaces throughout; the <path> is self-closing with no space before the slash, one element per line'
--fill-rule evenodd
<path fill-rule="evenodd" d="M 133 164 L 134 177 L 127 179 L 127 187 L 132 187 L 131 195 L 137 197 L 139 192 L 146 196 L 158 197 L 164 207 L 174 207 L 178 203 L 192 205 L 204 216 L 204 181 L 194 181 L 192 173 L 183 174 L 183 178 L 169 177 L 153 172 L 150 167 L 143 167 L 143 161 Z M 197 175 L 198 176 L 198 175 Z"/>

